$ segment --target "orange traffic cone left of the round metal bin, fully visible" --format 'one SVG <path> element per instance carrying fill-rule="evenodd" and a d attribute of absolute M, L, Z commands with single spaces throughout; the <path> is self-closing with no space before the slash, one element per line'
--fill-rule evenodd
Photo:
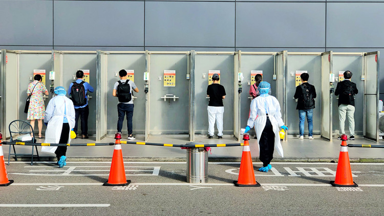
<path fill-rule="evenodd" d="M 121 134 L 119 134 L 119 137 L 116 134 L 115 139 L 116 139 L 116 144 L 115 144 L 115 150 L 113 151 L 110 176 L 108 181 L 103 184 L 104 186 L 125 186 L 131 183 L 131 180 L 127 181 L 125 177 L 123 155 L 121 152 L 121 144 L 119 144 L 121 139 Z"/>

